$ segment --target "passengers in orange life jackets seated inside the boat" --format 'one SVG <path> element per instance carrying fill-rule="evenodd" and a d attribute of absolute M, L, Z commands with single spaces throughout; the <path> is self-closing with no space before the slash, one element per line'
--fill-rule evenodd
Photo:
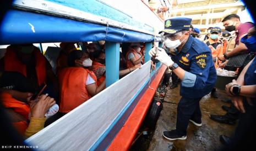
<path fill-rule="evenodd" d="M 104 42 L 75 44 L 59 44 L 56 71 L 33 44 L 6 48 L 0 60 L 0 100 L 25 138 L 106 88 Z M 121 48 L 119 76 L 124 77 L 143 65 L 145 43 L 123 43 Z"/>

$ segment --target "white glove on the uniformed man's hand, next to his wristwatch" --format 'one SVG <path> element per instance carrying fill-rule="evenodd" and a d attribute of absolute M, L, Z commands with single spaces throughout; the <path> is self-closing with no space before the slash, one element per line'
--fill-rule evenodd
<path fill-rule="evenodd" d="M 153 48 L 154 49 L 154 48 Z M 151 49 L 152 50 L 152 49 Z M 150 51 L 151 51 L 150 50 Z M 150 52 L 149 51 L 149 52 Z M 155 51 L 155 50 L 154 50 Z M 160 62 L 164 63 L 167 67 L 170 67 L 174 64 L 171 57 L 168 56 L 164 49 L 158 48 L 158 51 L 156 53 L 155 59 L 159 60 Z"/>

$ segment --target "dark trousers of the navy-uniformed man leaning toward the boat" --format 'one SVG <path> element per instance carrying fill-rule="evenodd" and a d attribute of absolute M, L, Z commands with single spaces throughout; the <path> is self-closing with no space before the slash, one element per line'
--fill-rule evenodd
<path fill-rule="evenodd" d="M 187 134 L 189 119 L 201 121 L 200 98 L 182 97 L 177 108 L 176 130 L 180 135 Z"/>

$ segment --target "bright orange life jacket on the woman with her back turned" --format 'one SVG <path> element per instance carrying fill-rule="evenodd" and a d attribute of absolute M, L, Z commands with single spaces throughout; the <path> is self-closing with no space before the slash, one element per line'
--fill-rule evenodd
<path fill-rule="evenodd" d="M 86 90 L 88 73 L 97 84 L 94 72 L 83 67 L 68 67 L 59 71 L 59 112 L 68 113 L 91 97 Z"/>

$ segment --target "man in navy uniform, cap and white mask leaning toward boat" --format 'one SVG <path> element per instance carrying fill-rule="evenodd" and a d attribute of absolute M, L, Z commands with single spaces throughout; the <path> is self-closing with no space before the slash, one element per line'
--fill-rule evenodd
<path fill-rule="evenodd" d="M 201 126 L 199 101 L 214 88 L 216 70 L 211 57 L 211 50 L 206 44 L 190 36 L 189 18 L 173 18 L 165 21 L 162 40 L 171 50 L 172 59 L 164 49 L 151 49 L 149 55 L 172 69 L 182 80 L 181 100 L 177 108 L 176 130 L 164 131 L 168 140 L 186 140 L 189 121 Z"/>

